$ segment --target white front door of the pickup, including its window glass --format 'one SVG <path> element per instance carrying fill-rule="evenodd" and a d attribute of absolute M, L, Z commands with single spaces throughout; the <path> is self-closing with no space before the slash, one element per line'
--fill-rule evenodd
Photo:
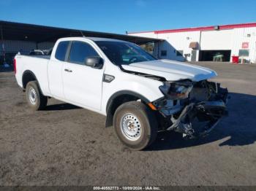
<path fill-rule="evenodd" d="M 62 73 L 64 96 L 67 101 L 74 104 L 100 110 L 103 69 L 86 66 L 84 61 L 88 56 L 99 56 L 99 54 L 91 44 L 72 42 Z"/>

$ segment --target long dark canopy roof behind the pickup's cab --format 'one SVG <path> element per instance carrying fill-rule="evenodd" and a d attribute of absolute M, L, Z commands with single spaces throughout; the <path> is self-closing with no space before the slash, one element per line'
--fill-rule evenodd
<path fill-rule="evenodd" d="M 97 31 L 83 31 L 79 29 L 57 28 L 51 26 L 39 26 L 26 23 L 14 23 L 0 20 L 0 40 L 1 30 L 3 38 L 9 40 L 32 41 L 32 42 L 56 42 L 57 39 L 70 36 L 90 36 L 110 39 L 121 39 L 135 42 L 136 44 L 146 44 L 148 42 L 159 42 L 161 39 L 146 38 L 140 36 L 130 36 L 125 34 L 110 34 Z"/>

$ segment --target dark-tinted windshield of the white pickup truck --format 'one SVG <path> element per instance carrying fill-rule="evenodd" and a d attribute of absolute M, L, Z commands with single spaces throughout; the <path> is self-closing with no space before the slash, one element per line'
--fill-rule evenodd
<path fill-rule="evenodd" d="M 130 42 L 96 41 L 110 61 L 118 66 L 157 60 L 136 44 Z"/>

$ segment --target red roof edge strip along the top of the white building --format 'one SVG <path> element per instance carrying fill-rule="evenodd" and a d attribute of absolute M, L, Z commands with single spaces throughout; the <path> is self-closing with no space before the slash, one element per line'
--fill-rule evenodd
<path fill-rule="evenodd" d="M 165 34 L 165 33 L 189 32 L 189 31 L 214 31 L 215 27 L 216 26 L 203 26 L 203 27 L 195 27 L 195 28 L 177 28 L 177 29 L 168 29 L 168 30 L 160 30 L 160 31 L 140 31 L 140 32 L 131 32 L 129 34 L 140 34 L 140 33 Z M 249 27 L 256 27 L 256 23 L 222 25 L 218 27 L 219 27 L 219 30 L 233 29 L 233 28 L 249 28 Z"/>

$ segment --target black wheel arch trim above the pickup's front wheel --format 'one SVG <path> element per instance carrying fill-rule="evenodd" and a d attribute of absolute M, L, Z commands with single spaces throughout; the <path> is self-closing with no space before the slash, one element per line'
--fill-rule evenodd
<path fill-rule="evenodd" d="M 145 104 L 150 102 L 145 96 L 130 90 L 121 90 L 111 95 L 106 106 L 107 119 L 105 122 L 105 127 L 110 127 L 113 125 L 113 115 L 115 114 L 118 106 L 127 101 L 137 101 L 139 99 Z"/>

